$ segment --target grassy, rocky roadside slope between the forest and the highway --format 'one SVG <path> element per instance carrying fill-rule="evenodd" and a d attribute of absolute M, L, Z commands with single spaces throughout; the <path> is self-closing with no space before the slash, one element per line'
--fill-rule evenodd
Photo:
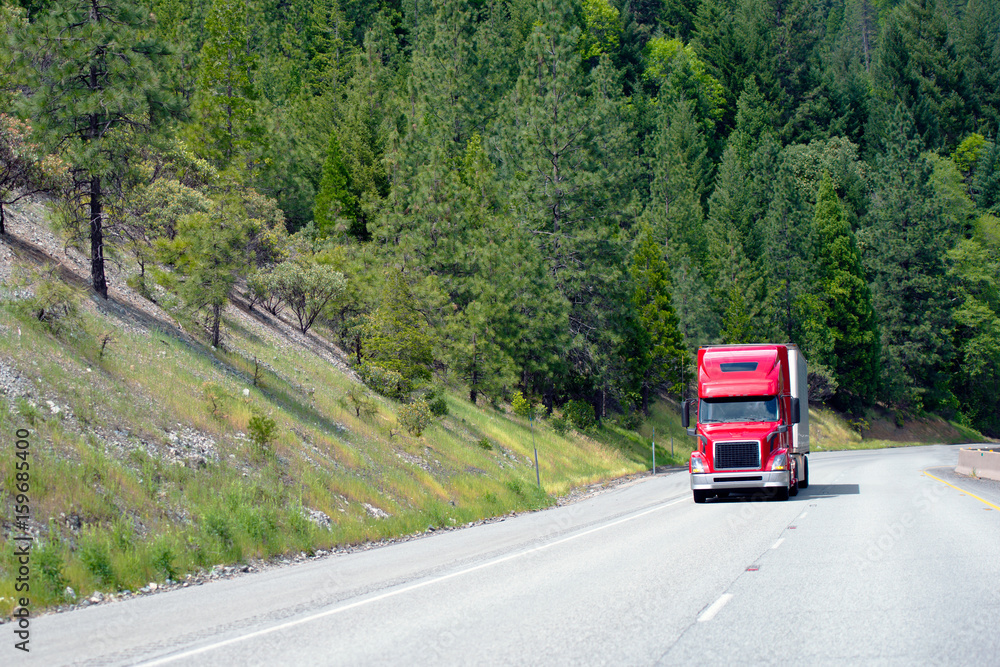
<path fill-rule="evenodd" d="M 445 393 L 448 414 L 414 437 L 394 401 L 375 396 L 370 416 L 351 409 L 356 380 L 320 335 L 229 308 L 214 349 L 188 333 L 195 323 L 139 311 L 124 291 L 105 303 L 80 290 L 79 312 L 47 323 L 36 308 L 52 281 L 30 259 L 15 259 L 0 300 L 0 613 L 14 607 L 13 538 L 25 528 L 9 520 L 18 429 L 30 431 L 35 608 L 70 601 L 67 587 L 134 590 L 217 564 L 545 507 L 648 469 L 654 427 L 658 465 L 689 451 L 662 404 L 640 432 L 606 420 L 560 434 L 509 406 L 472 405 L 457 388 Z M 255 415 L 273 421 L 271 437 L 254 438 Z"/>

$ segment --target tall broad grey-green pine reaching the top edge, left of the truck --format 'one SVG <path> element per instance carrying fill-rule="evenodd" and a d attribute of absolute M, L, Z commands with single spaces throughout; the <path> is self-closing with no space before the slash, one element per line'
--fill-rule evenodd
<path fill-rule="evenodd" d="M 619 221 L 626 193 L 619 188 L 627 174 L 626 125 L 608 59 L 602 57 L 587 76 L 568 8 L 545 7 L 504 114 L 500 153 L 522 233 L 535 239 L 572 307 L 567 357 L 578 395 L 597 403 L 600 415 L 606 354 L 615 347 L 612 319 L 625 303 Z"/>

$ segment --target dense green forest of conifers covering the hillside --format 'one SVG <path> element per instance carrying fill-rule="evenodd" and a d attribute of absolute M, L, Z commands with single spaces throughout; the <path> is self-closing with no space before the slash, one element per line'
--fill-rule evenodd
<path fill-rule="evenodd" d="M 104 296 L 224 345 L 245 285 L 383 393 L 598 418 L 791 341 L 1000 435 L 993 0 L 3 2 L 0 200 L 59 194 Z"/>

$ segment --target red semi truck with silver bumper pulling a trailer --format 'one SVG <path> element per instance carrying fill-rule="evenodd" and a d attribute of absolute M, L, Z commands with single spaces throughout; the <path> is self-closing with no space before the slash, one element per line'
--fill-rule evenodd
<path fill-rule="evenodd" d="M 698 399 L 684 401 L 681 423 L 698 438 L 688 464 L 696 503 L 733 492 L 787 500 L 809 486 L 809 384 L 795 345 L 699 349 Z"/>

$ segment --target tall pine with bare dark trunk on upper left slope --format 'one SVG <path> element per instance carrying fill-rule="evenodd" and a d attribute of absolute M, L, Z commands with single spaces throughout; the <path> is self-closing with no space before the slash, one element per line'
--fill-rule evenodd
<path fill-rule="evenodd" d="M 168 51 L 152 36 L 148 9 L 122 0 L 54 0 L 16 49 L 34 91 L 23 110 L 74 172 L 90 228 L 91 281 L 107 298 L 107 187 L 141 138 L 178 112 L 160 80 Z"/>

